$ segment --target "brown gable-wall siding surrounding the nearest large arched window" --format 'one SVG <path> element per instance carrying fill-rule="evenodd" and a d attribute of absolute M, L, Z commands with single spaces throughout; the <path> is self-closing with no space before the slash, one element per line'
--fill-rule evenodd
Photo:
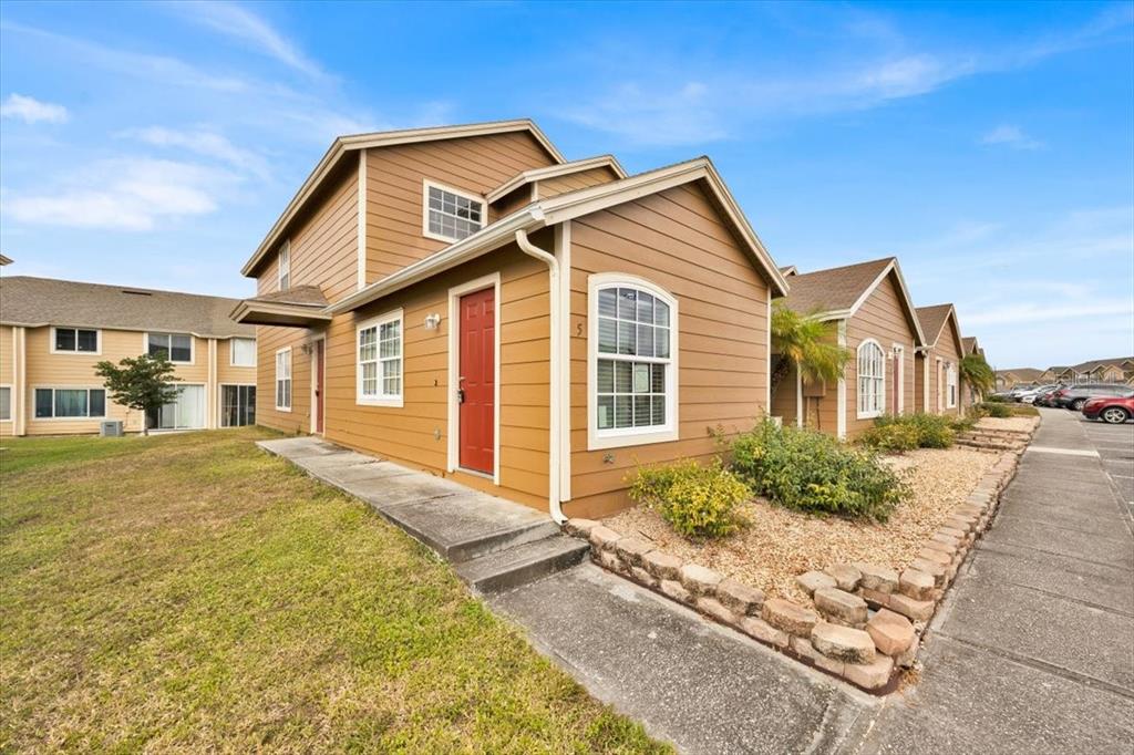
<path fill-rule="evenodd" d="M 572 223 L 570 516 L 629 504 L 626 477 L 637 464 L 716 450 L 709 431 L 753 426 L 767 410 L 768 297 L 710 198 L 683 186 Z M 678 440 L 587 451 L 587 278 L 634 274 L 678 299 Z"/>

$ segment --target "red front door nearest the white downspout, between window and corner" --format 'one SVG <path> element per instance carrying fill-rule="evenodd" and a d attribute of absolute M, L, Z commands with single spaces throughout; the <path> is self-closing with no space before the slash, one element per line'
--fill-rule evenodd
<path fill-rule="evenodd" d="M 460 466 L 492 474 L 496 440 L 496 291 L 460 297 Z"/>

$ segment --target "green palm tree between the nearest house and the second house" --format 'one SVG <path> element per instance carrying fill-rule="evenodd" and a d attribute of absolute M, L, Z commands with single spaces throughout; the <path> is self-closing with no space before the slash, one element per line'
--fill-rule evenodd
<path fill-rule="evenodd" d="M 792 367 L 807 381 L 835 381 L 850 360 L 850 349 L 838 346 L 837 325 L 818 313 L 799 314 L 780 300 L 772 303 L 772 351 L 780 356 L 772 370 L 772 396 Z"/>

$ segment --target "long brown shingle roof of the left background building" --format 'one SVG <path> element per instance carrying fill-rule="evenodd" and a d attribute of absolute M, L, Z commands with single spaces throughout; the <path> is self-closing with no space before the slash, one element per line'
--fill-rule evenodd
<path fill-rule="evenodd" d="M 239 299 L 52 278 L 0 278 L 0 322 L 166 330 L 209 338 L 252 338 L 256 329 L 232 321 Z"/>

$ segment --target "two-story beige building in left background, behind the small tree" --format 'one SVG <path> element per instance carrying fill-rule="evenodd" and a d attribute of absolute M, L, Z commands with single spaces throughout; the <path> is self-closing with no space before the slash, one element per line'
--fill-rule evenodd
<path fill-rule="evenodd" d="M 48 278 L 0 278 L 0 434 L 228 427 L 255 422 L 255 329 L 232 322 L 237 303 Z M 95 365 L 166 354 L 178 399 L 150 417 L 110 400 Z"/>

